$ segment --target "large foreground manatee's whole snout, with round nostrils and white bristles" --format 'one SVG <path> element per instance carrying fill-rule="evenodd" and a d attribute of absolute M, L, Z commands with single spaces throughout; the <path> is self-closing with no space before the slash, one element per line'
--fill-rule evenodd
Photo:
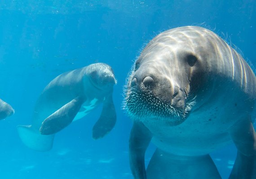
<path fill-rule="evenodd" d="M 171 77 L 152 71 L 148 68 L 142 73 L 139 69 L 130 76 L 124 106 L 128 115 L 132 119 L 161 119 L 168 125 L 181 124 L 194 102 L 187 100 L 187 91 L 172 83 Z"/>

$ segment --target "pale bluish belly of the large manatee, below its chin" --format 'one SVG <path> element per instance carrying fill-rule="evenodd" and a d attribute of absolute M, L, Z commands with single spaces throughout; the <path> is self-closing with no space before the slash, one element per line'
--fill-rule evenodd
<path fill-rule="evenodd" d="M 236 113 L 212 107 L 203 107 L 191 113 L 180 125 L 149 119 L 143 123 L 153 134 L 152 143 L 159 149 L 177 155 L 204 155 L 230 144 L 229 128 L 236 120 Z"/>

